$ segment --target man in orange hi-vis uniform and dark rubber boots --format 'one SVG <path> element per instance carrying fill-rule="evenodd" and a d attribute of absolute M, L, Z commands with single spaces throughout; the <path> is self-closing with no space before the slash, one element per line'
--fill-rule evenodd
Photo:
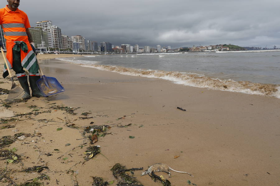
<path fill-rule="evenodd" d="M 36 85 L 36 81 L 40 79 L 38 72 L 39 66 L 33 51 L 35 50 L 34 43 L 28 29 L 30 28 L 28 17 L 26 13 L 17 8 L 20 0 L 7 0 L 7 2 L 8 5 L 0 9 L 0 24 L 2 25 L 6 39 L 8 68 L 16 72 L 22 88 L 27 93 L 24 99 L 30 99 L 30 90 L 23 68 L 29 71 L 32 96 L 42 96 L 42 93 Z M 8 72 L 5 65 L 3 78 L 7 76 Z"/>

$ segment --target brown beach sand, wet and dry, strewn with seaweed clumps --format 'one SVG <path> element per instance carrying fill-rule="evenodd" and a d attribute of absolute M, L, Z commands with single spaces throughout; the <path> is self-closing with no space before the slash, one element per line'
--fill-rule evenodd
<path fill-rule="evenodd" d="M 115 180 L 110 171 L 115 163 L 128 168 L 144 167 L 144 170 L 155 163 L 166 163 L 175 170 L 194 175 L 193 178 L 172 172 L 168 178 L 166 173 L 156 173 L 167 178 L 171 185 L 189 185 L 188 180 L 191 185 L 198 186 L 279 185 L 279 99 L 177 85 L 58 60 L 42 61 L 69 56 L 73 55 L 38 55 L 45 75 L 62 82 L 65 92 L 48 98 L 33 97 L 26 103 L 8 108 L 14 114 L 32 114 L 12 117 L 16 121 L 8 125 L 15 127 L 1 129 L 0 137 L 19 132 L 35 133 L 33 137 L 16 140 L 3 148 L 15 147 L 16 153 L 22 155 L 24 165 L 0 161 L 1 171 L 7 167 L 7 176 L 17 184 L 40 175 L 19 172 L 31 166 L 49 167 L 42 171 L 50 177 L 50 180 L 41 181 L 44 185 L 70 186 L 78 182 L 80 186 L 90 186 L 91 176 Z M 4 82 L 0 84 L 1 88 L 10 89 L 8 78 L 1 81 Z M 1 100 L 6 97 L 0 95 Z M 38 108 L 28 108 L 31 105 Z M 52 105 L 81 108 L 75 110 L 77 115 L 71 115 L 50 108 Z M 1 112 L 6 109 L 0 108 Z M 43 111 L 46 113 L 36 115 Z M 78 118 L 85 117 L 81 115 L 84 112 L 91 113 L 87 117 L 93 118 Z M 130 123 L 128 127 L 117 127 Z M 67 127 L 69 124 L 75 124 L 79 129 Z M 75 166 L 84 160 L 84 152 L 90 145 L 81 135 L 83 127 L 90 125 L 109 125 L 112 128 L 107 132 L 113 134 L 99 137 L 95 144 L 101 146 L 104 156 L 98 154 Z M 0 128 L 2 126 L 7 124 L 0 124 Z M 63 129 L 57 131 L 58 127 Z M 82 148 L 79 147 L 81 144 Z M 48 156 L 48 153 L 52 155 Z M 148 175 L 140 176 L 140 171 L 135 171 L 135 176 L 143 185 L 162 185 L 154 183 Z M 115 180 L 113 185 L 116 184 Z M 9 182 L 0 182 L 0 185 L 9 185 Z"/>

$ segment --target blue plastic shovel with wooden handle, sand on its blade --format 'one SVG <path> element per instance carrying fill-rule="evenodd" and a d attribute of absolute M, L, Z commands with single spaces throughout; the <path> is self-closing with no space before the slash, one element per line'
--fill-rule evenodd
<path fill-rule="evenodd" d="M 65 91 L 63 86 L 61 86 L 61 84 L 57 81 L 56 78 L 45 76 L 40 66 L 39 69 L 41 73 L 41 78 L 36 81 L 36 84 L 44 97 L 48 97 L 50 95 L 58 94 L 60 92 Z"/>

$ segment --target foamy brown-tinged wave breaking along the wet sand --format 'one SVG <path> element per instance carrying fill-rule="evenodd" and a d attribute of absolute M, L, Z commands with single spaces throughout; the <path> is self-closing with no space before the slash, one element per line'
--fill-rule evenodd
<path fill-rule="evenodd" d="M 99 70 L 117 72 L 124 75 L 142 76 L 147 78 L 160 78 L 172 81 L 177 84 L 208 88 L 221 91 L 241 92 L 245 94 L 268 95 L 280 99 L 280 85 L 252 83 L 248 81 L 234 81 L 231 79 L 222 80 L 219 78 L 209 78 L 198 73 L 174 72 L 163 70 L 132 69 L 120 66 L 98 65 L 84 63 L 81 61 L 65 60 L 70 63 L 84 67 L 91 67 Z"/>

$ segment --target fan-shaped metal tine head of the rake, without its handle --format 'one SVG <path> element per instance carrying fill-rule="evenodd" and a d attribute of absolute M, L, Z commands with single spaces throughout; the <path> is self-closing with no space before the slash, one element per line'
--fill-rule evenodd
<path fill-rule="evenodd" d="M 16 83 L 12 82 L 12 88 L 9 92 L 7 100 L 5 100 L 6 104 L 17 104 L 23 102 L 28 95 L 20 86 L 16 85 Z"/>

